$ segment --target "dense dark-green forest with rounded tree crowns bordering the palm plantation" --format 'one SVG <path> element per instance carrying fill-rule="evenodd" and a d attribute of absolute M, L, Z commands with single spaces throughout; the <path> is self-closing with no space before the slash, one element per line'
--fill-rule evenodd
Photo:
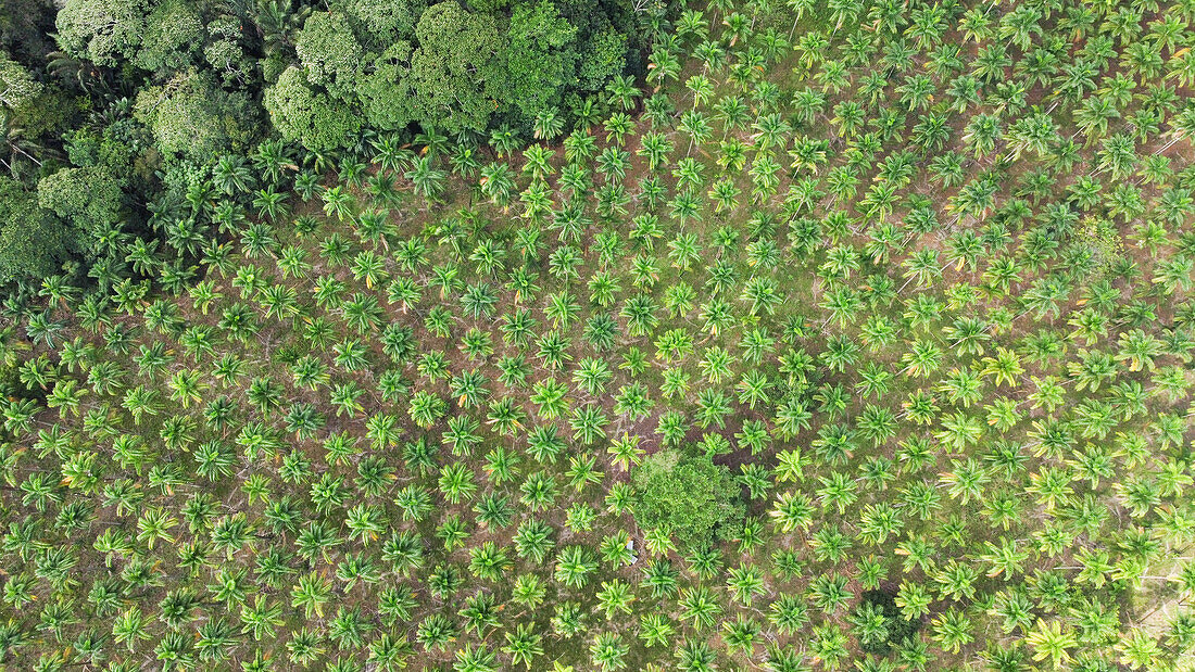
<path fill-rule="evenodd" d="M 513 147 L 537 119 L 593 124 L 642 80 L 675 13 L 661 0 L 4 0 L 0 283 L 104 284 L 122 266 L 114 240 L 192 235 L 177 229 L 207 222 L 180 222 L 189 193 L 258 186 L 269 162 L 320 169 L 421 134 Z"/>

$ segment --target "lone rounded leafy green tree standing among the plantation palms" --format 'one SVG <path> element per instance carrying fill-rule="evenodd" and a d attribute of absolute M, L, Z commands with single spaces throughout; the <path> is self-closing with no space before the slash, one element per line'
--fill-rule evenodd
<path fill-rule="evenodd" d="M 735 537 L 742 528 L 742 487 L 709 456 L 668 449 L 631 475 L 639 528 L 663 529 L 686 548 Z"/>

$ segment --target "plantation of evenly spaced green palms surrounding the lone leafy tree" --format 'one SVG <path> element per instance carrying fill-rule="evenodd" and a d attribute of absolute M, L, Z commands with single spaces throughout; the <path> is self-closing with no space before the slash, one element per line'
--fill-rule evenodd
<path fill-rule="evenodd" d="M 5 303 L 0 652 L 1182 668 L 1193 19 L 717 1 L 569 132 L 220 161 Z"/>

